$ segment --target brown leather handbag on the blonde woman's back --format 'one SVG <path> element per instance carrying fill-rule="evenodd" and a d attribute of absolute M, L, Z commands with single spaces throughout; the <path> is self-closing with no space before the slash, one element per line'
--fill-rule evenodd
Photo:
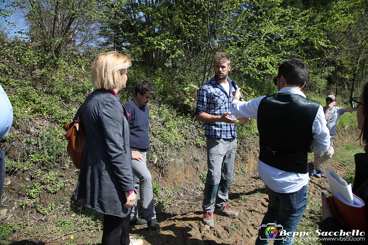
<path fill-rule="evenodd" d="M 82 123 L 82 109 L 79 111 L 78 119 L 65 126 L 67 132 L 64 136 L 68 140 L 67 152 L 76 168 L 81 168 L 84 146 L 86 145 L 86 135 Z"/>

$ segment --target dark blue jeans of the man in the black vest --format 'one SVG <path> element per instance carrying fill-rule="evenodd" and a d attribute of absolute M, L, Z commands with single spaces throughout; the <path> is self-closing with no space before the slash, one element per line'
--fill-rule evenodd
<path fill-rule="evenodd" d="M 296 231 L 307 207 L 308 185 L 293 193 L 278 193 L 272 191 L 267 186 L 266 189 L 268 191 L 269 204 L 261 225 L 275 223 L 281 225 L 286 232 Z M 262 240 L 260 236 L 262 238 L 265 237 L 265 229 L 259 229 L 255 244 L 268 244 L 268 240 Z M 292 237 L 288 237 L 286 240 L 275 240 L 273 244 L 289 245 L 293 244 L 293 240 Z"/>

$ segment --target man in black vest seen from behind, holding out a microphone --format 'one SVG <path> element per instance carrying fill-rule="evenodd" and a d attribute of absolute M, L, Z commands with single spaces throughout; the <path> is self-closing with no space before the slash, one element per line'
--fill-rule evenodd
<path fill-rule="evenodd" d="M 256 245 L 267 244 L 268 239 L 275 245 L 293 243 L 287 232 L 296 231 L 308 201 L 307 154 L 312 146 L 324 151 L 330 144 L 322 106 L 301 92 L 307 76 L 307 65 L 290 58 L 273 79 L 279 90 L 275 95 L 240 102 L 240 90 L 234 92 L 231 112 L 257 120 L 257 170 L 269 196 Z"/>

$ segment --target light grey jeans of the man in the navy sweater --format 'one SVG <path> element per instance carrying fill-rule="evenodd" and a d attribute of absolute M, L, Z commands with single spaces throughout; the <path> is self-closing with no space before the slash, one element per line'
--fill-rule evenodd
<path fill-rule="evenodd" d="M 144 214 L 144 219 L 150 221 L 156 218 L 155 204 L 153 201 L 152 177 L 146 166 L 146 152 L 138 152 L 141 153 L 145 161 L 132 159 L 132 169 L 134 174 L 134 193 L 136 195 L 136 198 L 135 204 L 132 207 L 132 212 L 130 213 L 130 220 L 136 220 L 138 218 L 137 200 L 139 189 L 139 197 L 142 203 L 142 212 Z"/>

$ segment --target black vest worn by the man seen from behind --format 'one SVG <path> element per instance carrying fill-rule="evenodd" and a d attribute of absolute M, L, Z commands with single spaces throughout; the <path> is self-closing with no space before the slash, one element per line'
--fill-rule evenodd
<path fill-rule="evenodd" d="M 306 174 L 312 126 L 320 104 L 301 95 L 277 93 L 259 103 L 259 160 L 283 171 Z"/>

